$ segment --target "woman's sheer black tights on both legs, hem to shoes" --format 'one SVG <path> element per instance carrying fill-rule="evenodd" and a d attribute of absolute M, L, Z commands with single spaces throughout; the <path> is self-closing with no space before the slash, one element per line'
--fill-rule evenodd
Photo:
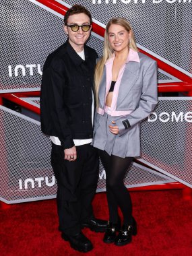
<path fill-rule="evenodd" d="M 123 213 L 123 224 L 132 224 L 132 203 L 129 191 L 123 179 L 133 158 L 109 156 L 105 151 L 98 150 L 100 160 L 106 171 L 106 196 L 108 201 L 109 221 L 117 224 L 119 220 L 118 206 Z"/>

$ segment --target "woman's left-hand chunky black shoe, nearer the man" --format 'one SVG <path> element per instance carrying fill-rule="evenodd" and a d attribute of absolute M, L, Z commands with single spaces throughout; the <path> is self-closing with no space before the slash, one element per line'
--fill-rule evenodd
<path fill-rule="evenodd" d="M 107 244 L 113 243 L 116 238 L 116 232 L 119 231 L 120 228 L 121 228 L 121 222 L 119 222 L 119 224 L 113 224 L 113 222 L 108 221 L 108 225 L 103 238 L 104 243 L 107 243 Z"/>

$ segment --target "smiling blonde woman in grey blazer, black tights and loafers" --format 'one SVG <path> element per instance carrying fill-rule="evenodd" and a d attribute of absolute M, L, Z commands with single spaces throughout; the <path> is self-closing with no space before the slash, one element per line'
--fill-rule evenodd
<path fill-rule="evenodd" d="M 106 25 L 104 54 L 95 72 L 96 115 L 92 145 L 106 170 L 109 221 L 104 243 L 127 245 L 137 234 L 129 191 L 123 183 L 133 157 L 140 156 L 140 121 L 158 102 L 156 61 L 139 53 L 123 18 Z M 118 215 L 123 213 L 123 223 Z M 117 234 L 117 231 L 119 233 Z"/>

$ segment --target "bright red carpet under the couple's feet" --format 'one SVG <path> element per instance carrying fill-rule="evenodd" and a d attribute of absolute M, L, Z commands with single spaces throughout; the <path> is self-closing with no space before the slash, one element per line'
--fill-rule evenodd
<path fill-rule="evenodd" d="M 87 228 L 94 249 L 84 255 L 188 256 L 192 255 L 192 200 L 182 191 L 131 192 L 138 234 L 125 247 L 102 243 L 101 233 Z M 94 199 L 96 217 L 107 219 L 105 193 Z M 0 209 L 1 256 L 83 255 L 73 251 L 57 230 L 55 199 L 11 205 Z"/>

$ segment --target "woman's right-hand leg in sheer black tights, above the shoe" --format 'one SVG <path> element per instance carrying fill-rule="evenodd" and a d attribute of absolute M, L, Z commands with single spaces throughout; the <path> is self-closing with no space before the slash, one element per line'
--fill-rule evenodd
<path fill-rule="evenodd" d="M 129 191 L 124 185 L 124 177 L 133 158 L 120 158 L 119 156 L 110 156 L 110 169 L 107 170 L 106 187 L 113 195 L 113 201 L 117 204 L 123 213 L 123 224 L 132 225 L 132 203 Z M 115 198 L 114 198 L 115 197 Z"/>

